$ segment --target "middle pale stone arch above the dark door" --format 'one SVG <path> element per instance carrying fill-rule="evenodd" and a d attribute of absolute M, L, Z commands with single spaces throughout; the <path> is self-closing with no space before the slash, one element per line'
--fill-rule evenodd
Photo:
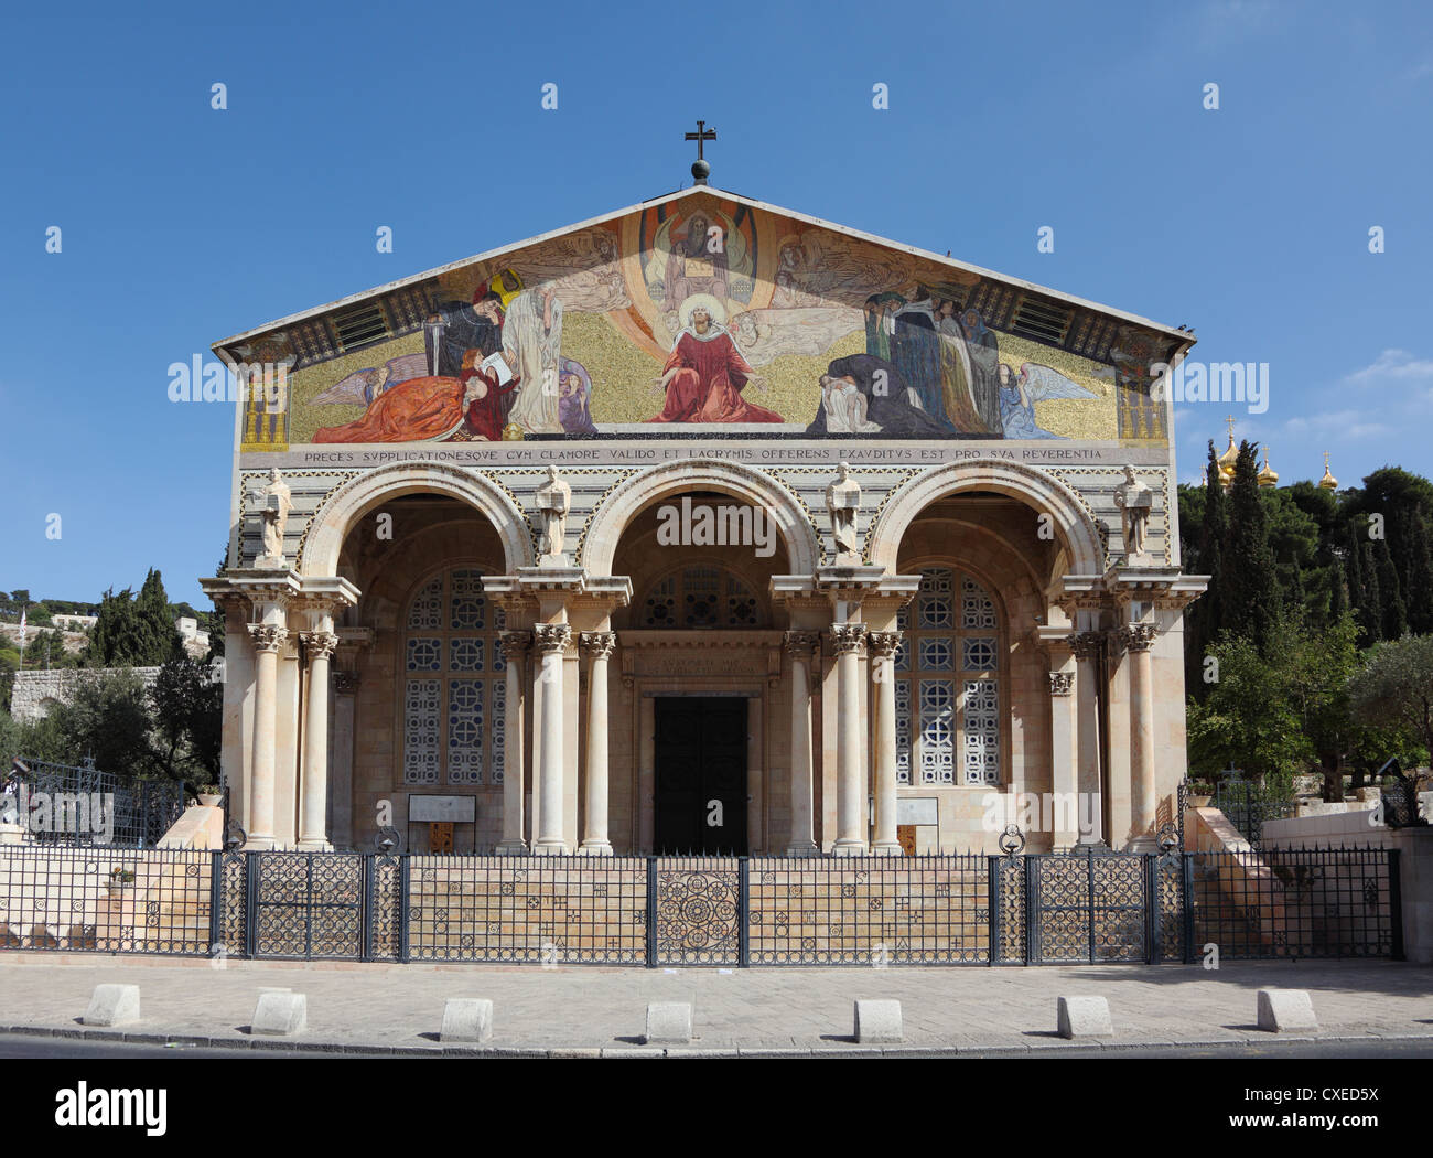
<path fill-rule="evenodd" d="M 610 575 L 618 540 L 642 510 L 668 494 L 708 489 L 765 510 L 781 532 L 792 573 L 815 572 L 821 543 L 797 497 L 768 474 L 722 459 L 663 463 L 623 482 L 593 512 L 582 537 L 579 562 L 589 575 Z"/>

